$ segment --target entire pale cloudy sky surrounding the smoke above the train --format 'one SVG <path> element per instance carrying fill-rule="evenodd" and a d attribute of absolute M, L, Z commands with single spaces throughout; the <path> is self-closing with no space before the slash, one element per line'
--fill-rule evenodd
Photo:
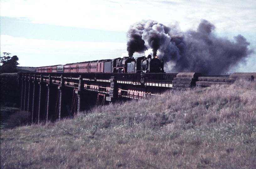
<path fill-rule="evenodd" d="M 207 20 L 217 37 L 241 34 L 255 51 L 255 9 L 253 0 L 0 0 L 0 53 L 30 67 L 128 56 L 127 31 L 148 19 L 180 31 Z M 255 64 L 252 52 L 229 73 L 256 72 Z"/>

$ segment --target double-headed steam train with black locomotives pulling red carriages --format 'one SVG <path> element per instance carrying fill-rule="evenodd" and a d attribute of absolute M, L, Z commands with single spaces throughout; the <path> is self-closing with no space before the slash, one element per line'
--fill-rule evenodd
<path fill-rule="evenodd" d="M 138 58 L 124 57 L 79 62 L 65 65 L 38 67 L 36 72 L 46 73 L 164 73 L 163 59 L 156 54 Z"/>

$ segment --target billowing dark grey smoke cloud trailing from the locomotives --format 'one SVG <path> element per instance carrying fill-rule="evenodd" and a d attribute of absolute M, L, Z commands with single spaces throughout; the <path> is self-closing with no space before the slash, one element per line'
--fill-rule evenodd
<path fill-rule="evenodd" d="M 129 56 L 147 49 L 164 59 L 165 71 L 223 74 L 253 51 L 242 35 L 234 41 L 217 37 L 215 26 L 202 20 L 196 31 L 181 32 L 174 26 L 165 26 L 152 20 L 131 25 L 127 32 Z"/>

